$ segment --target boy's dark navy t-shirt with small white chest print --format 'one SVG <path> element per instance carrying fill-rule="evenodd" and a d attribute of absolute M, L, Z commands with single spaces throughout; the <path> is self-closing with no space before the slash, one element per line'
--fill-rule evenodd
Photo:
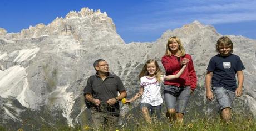
<path fill-rule="evenodd" d="M 214 87 L 224 87 L 227 90 L 235 91 L 237 81 L 235 74 L 244 70 L 245 67 L 239 56 L 230 54 L 229 56 L 215 55 L 209 61 L 207 70 L 213 72 L 211 85 Z"/>

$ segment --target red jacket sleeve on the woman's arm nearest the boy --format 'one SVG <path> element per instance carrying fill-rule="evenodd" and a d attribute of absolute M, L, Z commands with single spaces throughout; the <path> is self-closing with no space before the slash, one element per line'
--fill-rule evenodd
<path fill-rule="evenodd" d="M 197 84 L 197 78 L 196 78 L 196 74 L 195 74 L 195 69 L 194 69 L 194 64 L 193 64 L 193 60 L 190 57 L 190 61 L 189 61 L 189 79 L 190 79 L 190 86 L 192 90 L 195 90 L 196 88 L 196 84 Z"/>

